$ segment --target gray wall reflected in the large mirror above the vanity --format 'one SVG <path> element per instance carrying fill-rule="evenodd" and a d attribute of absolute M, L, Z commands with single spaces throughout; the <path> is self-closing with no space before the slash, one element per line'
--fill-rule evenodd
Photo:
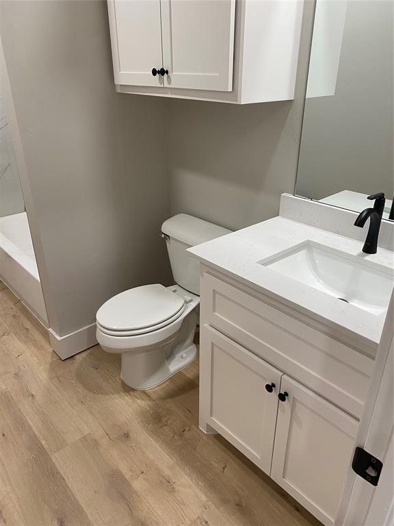
<path fill-rule="evenodd" d="M 348 2 L 335 95 L 306 99 L 298 174 L 298 195 L 312 199 L 393 196 L 391 0 Z"/>

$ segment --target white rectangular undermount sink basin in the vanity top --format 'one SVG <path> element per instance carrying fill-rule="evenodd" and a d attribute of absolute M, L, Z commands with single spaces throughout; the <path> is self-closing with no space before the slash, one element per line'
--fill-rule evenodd
<path fill-rule="evenodd" d="M 376 316 L 389 306 L 393 269 L 312 241 L 258 263 Z"/>

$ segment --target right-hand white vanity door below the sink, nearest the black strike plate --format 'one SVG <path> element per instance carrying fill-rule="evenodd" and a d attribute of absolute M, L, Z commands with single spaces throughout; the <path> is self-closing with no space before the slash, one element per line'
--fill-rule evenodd
<path fill-rule="evenodd" d="M 333 525 L 358 421 L 284 375 L 271 477 L 325 525 Z M 283 397 L 284 398 L 284 397 Z"/>

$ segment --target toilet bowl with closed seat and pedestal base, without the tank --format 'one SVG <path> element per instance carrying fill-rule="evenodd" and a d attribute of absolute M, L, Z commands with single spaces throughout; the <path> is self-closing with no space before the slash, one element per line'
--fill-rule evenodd
<path fill-rule="evenodd" d="M 156 290 L 153 291 L 152 287 Z M 161 319 L 161 314 L 155 310 L 154 292 L 160 291 L 160 288 L 168 292 L 168 295 L 175 295 L 181 303 L 180 312 L 172 313 L 165 320 Z M 96 318 L 96 338 L 107 353 L 122 354 L 120 377 L 125 384 L 133 389 L 150 389 L 181 371 L 196 358 L 196 345 L 193 340 L 200 298 L 177 285 L 168 288 L 159 284 L 146 285 L 127 292 L 131 292 L 128 297 L 130 306 L 135 305 L 133 292 L 139 292 L 139 297 L 143 297 L 146 293 L 147 299 L 153 300 L 152 310 L 148 312 L 153 323 L 145 327 L 138 326 L 141 323 L 136 323 L 131 314 L 129 323 L 123 323 L 122 329 L 118 329 L 111 327 L 111 323 L 105 317 L 107 313 L 99 310 Z M 116 312 L 117 299 L 119 298 L 115 296 L 110 300 L 112 303 L 106 305 L 107 310 L 113 308 Z M 127 299 L 121 300 L 120 304 L 123 306 Z M 169 303 L 172 304 L 171 299 Z M 144 306 L 148 308 L 147 304 L 148 301 Z"/>

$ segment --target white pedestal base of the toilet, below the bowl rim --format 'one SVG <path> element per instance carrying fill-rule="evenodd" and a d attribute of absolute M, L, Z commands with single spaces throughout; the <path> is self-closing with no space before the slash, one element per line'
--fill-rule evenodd
<path fill-rule="evenodd" d="M 185 318 L 174 339 L 159 347 L 141 349 L 140 352 L 122 353 L 120 377 L 127 386 L 144 391 L 159 386 L 172 375 L 194 362 L 197 314 L 192 311 Z"/>

